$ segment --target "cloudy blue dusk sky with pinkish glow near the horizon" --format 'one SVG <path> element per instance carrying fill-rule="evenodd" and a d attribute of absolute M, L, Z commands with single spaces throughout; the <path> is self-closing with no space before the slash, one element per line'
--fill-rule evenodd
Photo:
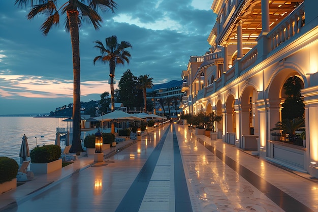
<path fill-rule="evenodd" d="M 40 31 L 45 16 L 27 20 L 30 8 L 0 1 L 0 115 L 49 113 L 73 103 L 73 63 L 65 17 L 47 36 Z M 65 0 L 59 0 L 60 7 Z M 181 80 L 190 56 L 204 55 L 216 15 L 213 0 L 117 0 L 114 13 L 100 14 L 97 31 L 84 22 L 80 29 L 81 101 L 110 93 L 109 64 L 93 64 L 100 55 L 94 41 L 117 36 L 133 48 L 129 64 L 116 66 L 115 79 L 130 69 L 149 75 L 153 84 Z M 115 88 L 117 84 L 115 84 Z"/>

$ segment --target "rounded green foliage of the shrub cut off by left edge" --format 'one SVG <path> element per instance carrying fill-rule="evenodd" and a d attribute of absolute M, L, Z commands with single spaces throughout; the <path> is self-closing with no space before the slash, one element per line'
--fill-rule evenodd
<path fill-rule="evenodd" d="M 0 157 L 0 184 L 17 177 L 19 165 L 18 163 L 8 157 Z"/>

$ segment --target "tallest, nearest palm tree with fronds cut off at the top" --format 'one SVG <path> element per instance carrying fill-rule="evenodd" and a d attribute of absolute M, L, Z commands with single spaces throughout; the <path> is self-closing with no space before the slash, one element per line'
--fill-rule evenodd
<path fill-rule="evenodd" d="M 53 26 L 59 25 L 60 14 L 66 14 L 65 29 L 71 35 L 73 54 L 73 141 L 71 153 L 82 151 L 81 145 L 81 103 L 80 103 L 80 50 L 79 50 L 79 28 L 82 21 L 89 21 L 95 29 L 100 28 L 102 17 L 97 13 L 98 9 L 103 12 L 110 10 L 114 12 L 117 4 L 113 0 L 70 0 L 58 7 L 59 1 L 47 0 L 16 0 L 15 5 L 19 7 L 31 6 L 32 9 L 27 15 L 33 19 L 37 15 L 46 15 L 47 19 L 41 26 L 41 31 L 46 36 Z M 86 4 L 85 4 L 86 3 Z"/>

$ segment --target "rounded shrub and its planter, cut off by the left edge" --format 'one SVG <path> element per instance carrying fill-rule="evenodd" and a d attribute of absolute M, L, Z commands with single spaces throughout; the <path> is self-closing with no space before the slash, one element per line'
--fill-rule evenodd
<path fill-rule="evenodd" d="M 0 194 L 17 188 L 18 163 L 8 157 L 0 157 Z"/>

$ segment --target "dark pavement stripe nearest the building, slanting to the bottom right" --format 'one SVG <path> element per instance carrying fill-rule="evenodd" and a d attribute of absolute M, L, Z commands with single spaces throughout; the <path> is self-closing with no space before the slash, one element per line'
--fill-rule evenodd
<path fill-rule="evenodd" d="M 240 165 L 219 150 L 213 148 L 210 144 L 199 139 L 199 142 L 204 145 L 211 153 L 213 153 L 221 161 L 225 162 L 229 167 L 236 171 L 240 176 L 245 178 L 248 183 L 265 194 L 270 200 L 276 203 L 280 208 L 288 212 L 314 212 L 309 207 L 294 199 L 292 196 L 281 191 L 259 175 Z"/>

